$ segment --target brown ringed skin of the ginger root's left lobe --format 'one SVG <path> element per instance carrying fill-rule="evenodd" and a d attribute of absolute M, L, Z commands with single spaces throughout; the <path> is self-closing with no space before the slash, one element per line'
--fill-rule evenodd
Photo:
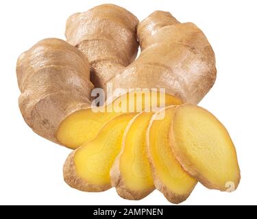
<path fill-rule="evenodd" d="M 64 40 L 41 40 L 22 53 L 16 75 L 25 122 L 53 142 L 58 142 L 55 133 L 66 116 L 90 107 L 88 60 Z"/>

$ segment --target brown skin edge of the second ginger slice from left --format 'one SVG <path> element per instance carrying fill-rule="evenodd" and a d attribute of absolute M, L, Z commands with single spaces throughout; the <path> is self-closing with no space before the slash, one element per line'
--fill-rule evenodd
<path fill-rule="evenodd" d="M 140 114 L 134 116 L 134 118 L 130 120 L 130 123 L 127 124 L 127 127 L 123 133 L 123 139 L 125 138 L 126 133 L 129 131 L 132 123 L 134 123 L 134 120 L 136 120 L 136 118 L 140 116 Z M 130 190 L 130 188 L 127 188 L 125 186 L 125 182 L 124 182 L 123 176 L 121 175 L 121 170 L 119 168 L 121 155 L 124 152 L 124 150 L 125 150 L 125 144 L 121 146 L 121 151 L 119 155 L 116 157 L 116 159 L 114 160 L 112 168 L 110 169 L 111 185 L 112 187 L 116 188 L 117 194 L 119 194 L 121 198 L 129 199 L 129 200 L 140 200 L 148 196 L 151 192 L 153 192 L 155 188 L 152 187 L 143 191 L 134 191 L 134 190 Z"/>

